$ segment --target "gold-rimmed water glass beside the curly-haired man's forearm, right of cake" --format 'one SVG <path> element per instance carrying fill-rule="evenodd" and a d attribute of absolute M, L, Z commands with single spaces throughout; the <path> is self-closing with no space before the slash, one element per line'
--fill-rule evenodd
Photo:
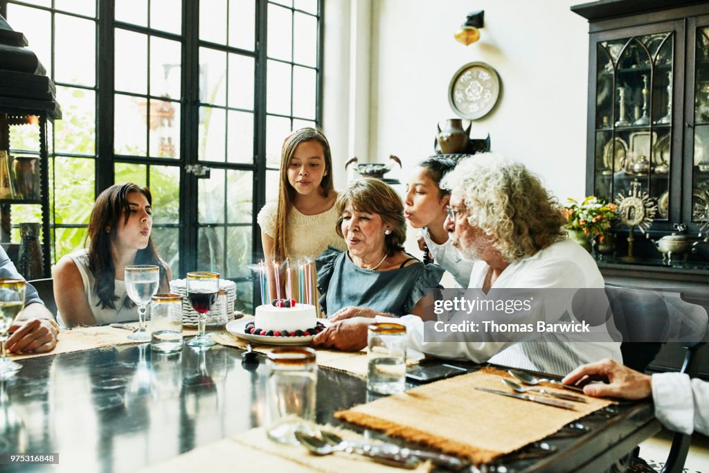
<path fill-rule="evenodd" d="M 396 394 L 406 384 L 406 327 L 372 323 L 367 333 L 367 389 Z"/>

